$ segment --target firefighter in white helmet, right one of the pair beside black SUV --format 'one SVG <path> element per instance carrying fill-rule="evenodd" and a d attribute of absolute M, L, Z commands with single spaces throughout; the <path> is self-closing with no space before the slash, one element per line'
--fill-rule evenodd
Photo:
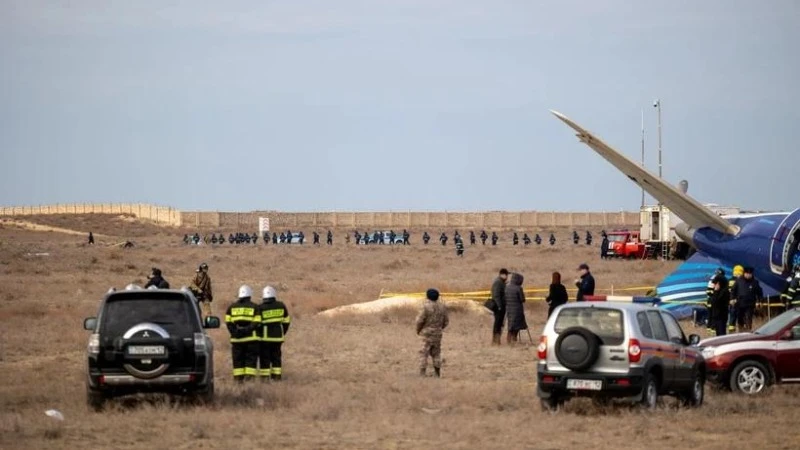
<path fill-rule="evenodd" d="M 283 375 L 281 346 L 286 340 L 286 333 L 289 331 L 292 318 L 289 316 L 286 305 L 278 300 L 278 293 L 274 287 L 265 287 L 262 294 L 261 305 L 258 308 L 261 316 L 258 374 L 262 381 L 268 379 L 280 381 Z"/>

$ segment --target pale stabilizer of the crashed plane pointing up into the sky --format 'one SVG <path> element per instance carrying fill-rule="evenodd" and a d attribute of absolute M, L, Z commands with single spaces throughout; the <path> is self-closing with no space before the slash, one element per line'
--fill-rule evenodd
<path fill-rule="evenodd" d="M 652 195 L 653 198 L 674 212 L 690 227 L 695 229 L 710 227 L 720 233 L 730 235 L 735 235 L 739 232 L 739 227 L 718 216 L 676 187 L 651 174 L 643 167 L 631 161 L 625 155 L 613 149 L 592 133 L 570 120 L 567 116 L 553 110 L 550 112 L 562 122 L 569 125 L 570 128 L 577 131 L 578 139 L 580 139 L 581 142 L 591 147 L 606 161 L 616 167 L 617 170 L 630 178 L 631 181 L 639 185 L 642 189 L 647 191 L 648 194 Z"/>

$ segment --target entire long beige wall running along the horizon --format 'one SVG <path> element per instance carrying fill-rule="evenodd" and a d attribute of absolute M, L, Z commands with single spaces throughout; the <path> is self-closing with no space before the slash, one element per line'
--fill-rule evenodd
<path fill-rule="evenodd" d="M 0 208 L 0 216 L 37 214 L 131 214 L 156 223 L 194 228 L 258 229 L 258 218 L 269 217 L 272 229 L 348 228 L 486 228 L 537 229 L 556 227 L 638 227 L 639 213 L 620 212 L 321 212 L 178 211 L 165 206 L 120 203 L 73 203 Z"/>

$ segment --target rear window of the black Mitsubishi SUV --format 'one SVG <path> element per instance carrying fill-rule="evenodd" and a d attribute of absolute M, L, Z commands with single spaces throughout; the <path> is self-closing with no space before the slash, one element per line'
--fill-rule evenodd
<path fill-rule="evenodd" d="M 160 325 L 170 335 L 186 335 L 195 332 L 191 302 L 184 297 L 109 298 L 103 312 L 101 334 L 121 336 L 132 327 L 150 322 Z"/>

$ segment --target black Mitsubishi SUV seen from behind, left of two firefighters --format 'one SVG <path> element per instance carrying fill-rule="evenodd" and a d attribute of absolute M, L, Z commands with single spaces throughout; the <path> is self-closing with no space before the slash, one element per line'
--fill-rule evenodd
<path fill-rule="evenodd" d="M 214 347 L 188 290 L 109 292 L 98 316 L 84 320 L 89 337 L 86 399 L 100 410 L 111 398 L 162 392 L 208 403 L 214 397 Z"/>

